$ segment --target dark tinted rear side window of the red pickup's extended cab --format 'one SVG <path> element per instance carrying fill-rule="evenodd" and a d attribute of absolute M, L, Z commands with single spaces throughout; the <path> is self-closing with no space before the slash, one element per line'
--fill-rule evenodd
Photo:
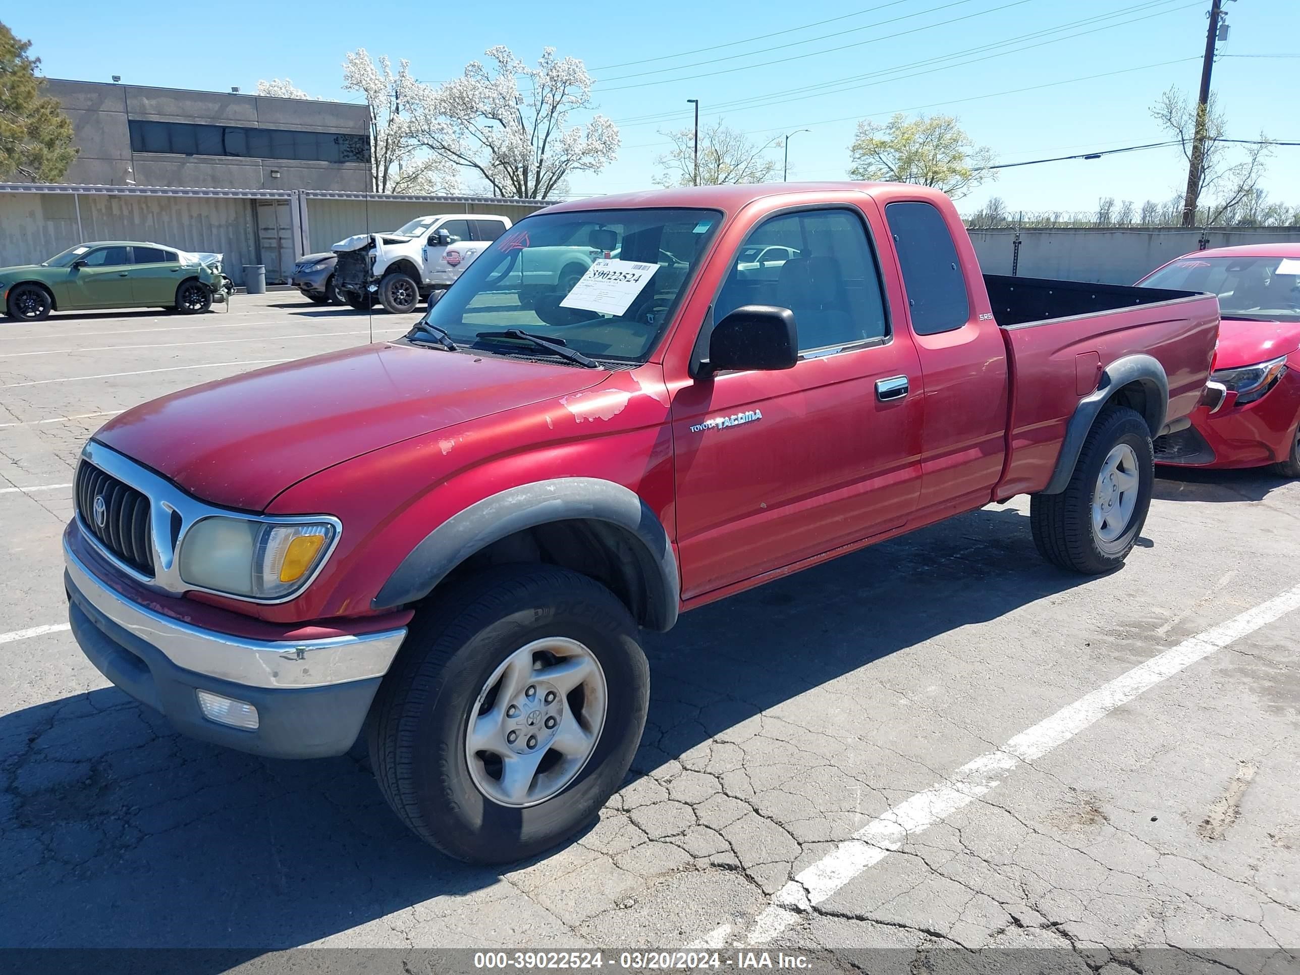
<path fill-rule="evenodd" d="M 898 254 L 913 332 L 937 335 L 970 321 L 966 276 L 944 214 L 930 203 L 890 203 L 885 222 Z"/>

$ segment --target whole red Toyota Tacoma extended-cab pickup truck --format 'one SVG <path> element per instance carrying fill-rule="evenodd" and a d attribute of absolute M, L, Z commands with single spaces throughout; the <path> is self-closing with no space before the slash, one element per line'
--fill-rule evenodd
<path fill-rule="evenodd" d="M 530 247 L 603 254 L 520 303 Z M 504 862 L 618 789 L 638 628 L 1028 493 L 1048 562 L 1118 566 L 1213 295 L 980 274 L 892 183 L 551 207 L 411 333 L 146 403 L 86 445 L 75 637 L 181 731 L 347 751 L 422 838 Z"/>

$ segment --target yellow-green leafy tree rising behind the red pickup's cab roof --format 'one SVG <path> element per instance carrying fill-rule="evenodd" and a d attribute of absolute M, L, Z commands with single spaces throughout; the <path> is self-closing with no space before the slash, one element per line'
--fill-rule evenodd
<path fill-rule="evenodd" d="M 993 151 L 976 146 L 953 116 L 916 116 L 902 112 L 887 125 L 858 122 L 849 147 L 854 179 L 888 179 L 920 183 L 963 196 L 987 179 L 993 179 Z"/>

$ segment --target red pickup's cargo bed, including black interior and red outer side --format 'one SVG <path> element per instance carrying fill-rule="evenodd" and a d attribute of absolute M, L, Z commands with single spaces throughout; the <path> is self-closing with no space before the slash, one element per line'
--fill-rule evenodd
<path fill-rule="evenodd" d="M 998 499 L 1043 490 L 1080 398 L 1124 356 L 1156 359 L 1169 381 L 1160 424 L 1196 408 L 1218 338 L 1218 299 L 1078 281 L 985 274 L 1010 372 L 1008 459 Z M 1156 430 L 1158 433 L 1158 430 Z"/>

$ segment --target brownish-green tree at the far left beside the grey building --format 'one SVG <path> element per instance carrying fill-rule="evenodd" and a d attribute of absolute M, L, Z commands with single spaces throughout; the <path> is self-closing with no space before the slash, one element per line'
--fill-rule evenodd
<path fill-rule="evenodd" d="M 56 99 L 40 94 L 30 40 L 0 23 L 0 179 L 53 183 L 77 159 L 73 124 Z"/>

